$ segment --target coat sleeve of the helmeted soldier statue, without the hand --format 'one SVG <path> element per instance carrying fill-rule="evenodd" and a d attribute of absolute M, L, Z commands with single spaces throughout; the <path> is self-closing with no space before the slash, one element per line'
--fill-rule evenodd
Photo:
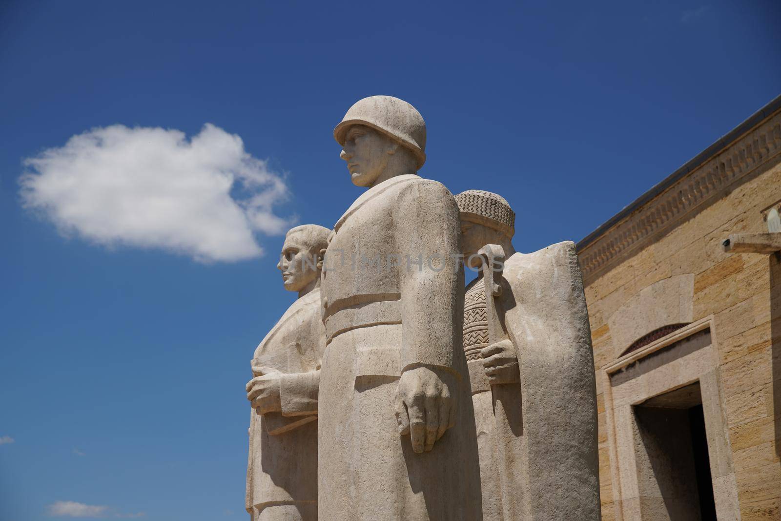
<path fill-rule="evenodd" d="M 463 315 L 464 277 L 455 198 L 431 181 L 406 186 L 394 213 L 394 235 L 394 253 L 401 257 L 403 370 L 451 369 L 462 341 L 456 325 Z"/>

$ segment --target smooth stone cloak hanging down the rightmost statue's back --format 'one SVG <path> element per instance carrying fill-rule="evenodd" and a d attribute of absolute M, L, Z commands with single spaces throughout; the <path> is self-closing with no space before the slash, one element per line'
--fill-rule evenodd
<path fill-rule="evenodd" d="M 502 284 L 521 367 L 524 519 L 601 519 L 594 358 L 575 244 L 516 253 Z"/>

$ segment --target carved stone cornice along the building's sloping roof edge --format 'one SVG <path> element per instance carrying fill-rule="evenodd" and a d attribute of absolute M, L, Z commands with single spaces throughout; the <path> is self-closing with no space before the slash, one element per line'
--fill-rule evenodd
<path fill-rule="evenodd" d="M 577 244 L 583 282 L 590 284 L 751 178 L 781 155 L 781 96 L 686 162 Z"/>

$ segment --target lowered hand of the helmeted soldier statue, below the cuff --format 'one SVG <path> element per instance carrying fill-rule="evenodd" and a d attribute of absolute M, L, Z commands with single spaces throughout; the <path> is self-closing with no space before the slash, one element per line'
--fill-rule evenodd
<path fill-rule="evenodd" d="M 455 424 L 455 376 L 445 369 L 416 367 L 401 373 L 396 391 L 398 433 L 409 434 L 412 450 L 430 451 Z"/>

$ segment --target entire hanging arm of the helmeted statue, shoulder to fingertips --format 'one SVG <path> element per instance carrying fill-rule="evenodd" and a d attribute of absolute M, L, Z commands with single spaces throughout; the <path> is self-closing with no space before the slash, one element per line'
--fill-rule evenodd
<path fill-rule="evenodd" d="M 455 424 L 461 349 L 463 277 L 458 253 L 458 207 L 438 183 L 404 187 L 394 213 L 401 256 L 401 378 L 394 402 L 398 432 L 412 450 L 430 451 Z"/>

